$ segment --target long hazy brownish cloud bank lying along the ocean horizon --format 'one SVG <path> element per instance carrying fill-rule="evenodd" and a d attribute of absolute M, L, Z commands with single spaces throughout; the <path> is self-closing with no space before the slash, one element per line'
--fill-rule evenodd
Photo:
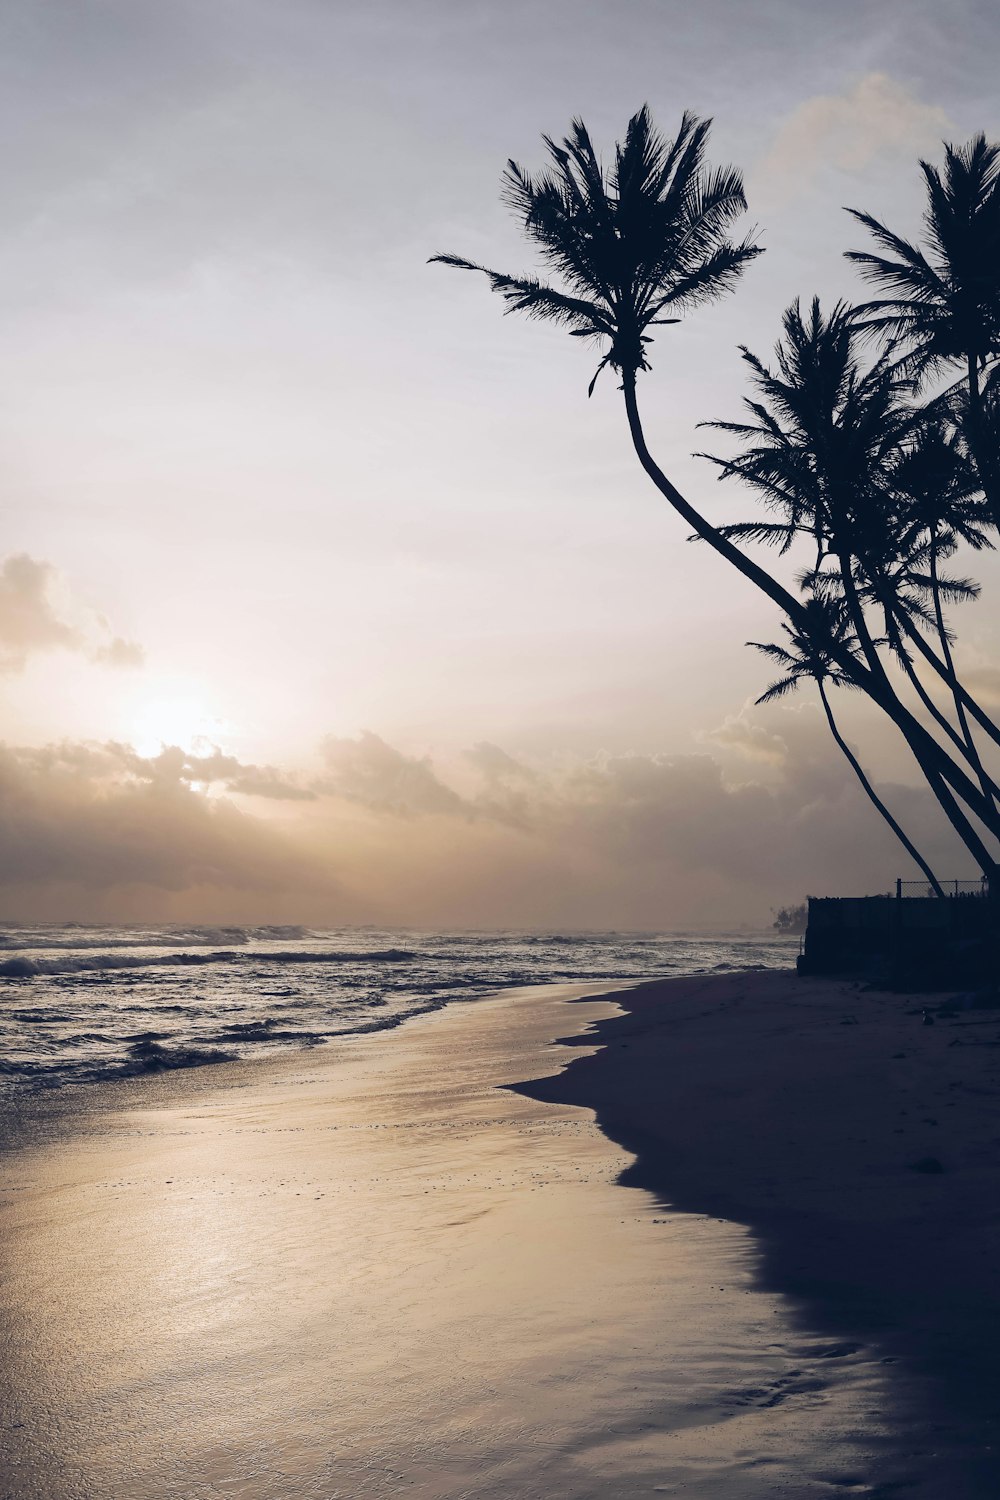
<path fill-rule="evenodd" d="M 309 778 L 219 750 L 0 750 L 12 918 L 711 927 L 909 873 L 805 710 L 736 716 L 697 754 L 526 765 L 480 744 L 448 772 L 378 735 Z M 883 786 L 946 873 L 922 792 Z"/>

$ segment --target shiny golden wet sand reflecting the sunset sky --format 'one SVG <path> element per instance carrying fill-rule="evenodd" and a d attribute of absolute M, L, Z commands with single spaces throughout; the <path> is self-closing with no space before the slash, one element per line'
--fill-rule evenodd
<path fill-rule="evenodd" d="M 616 1186 L 585 1112 L 495 1088 L 606 1011 L 555 993 L 123 1089 L 16 1156 L 6 1491 L 763 1500 L 864 1472 L 864 1352 L 753 1290 L 744 1230 Z"/>

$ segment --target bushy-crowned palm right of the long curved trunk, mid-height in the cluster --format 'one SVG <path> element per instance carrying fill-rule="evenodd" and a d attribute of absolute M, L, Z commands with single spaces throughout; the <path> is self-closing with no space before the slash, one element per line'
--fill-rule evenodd
<path fill-rule="evenodd" d="M 876 692 L 870 688 L 871 696 L 880 706 L 889 705 L 942 810 L 984 870 L 991 870 L 993 856 L 952 794 L 952 788 L 960 790 L 987 828 L 1000 837 L 1000 818 L 979 768 L 973 765 L 975 784 L 943 774 L 939 742 L 909 711 L 892 711 L 900 699 L 865 615 L 865 604 L 873 602 L 900 604 L 897 614 L 904 627 L 919 614 L 912 574 L 901 572 L 892 579 L 886 567 L 898 542 L 897 471 L 916 446 L 927 418 L 907 399 L 913 394 L 912 374 L 888 357 L 864 369 L 861 339 L 853 309 L 846 303 L 837 303 L 829 315 L 817 300 L 805 312 L 793 303 L 783 318 L 774 369 L 750 350 L 741 350 L 754 387 L 754 396 L 744 402 L 748 420 L 703 423 L 736 438 L 741 450 L 729 458 L 702 456 L 718 466 L 720 478 L 748 484 L 774 518 L 723 526 L 727 538 L 765 542 L 781 550 L 787 550 L 796 536 L 810 538 L 816 561 L 805 582 L 828 592 L 838 586 L 859 648 L 861 662 L 838 654 L 838 639 L 832 638 L 831 651 L 843 675 L 859 684 L 864 681 L 859 668 L 868 669 L 870 682 L 876 686 Z M 903 582 L 910 585 L 909 598 L 900 592 Z M 795 618 L 792 627 L 810 633 Z M 888 636 L 895 645 L 894 628 Z M 919 648 L 937 660 L 922 638 Z M 906 663 L 906 657 L 901 660 Z M 948 675 L 946 666 L 942 670 Z M 919 684 L 918 690 L 927 706 L 930 700 Z M 936 714 L 933 705 L 931 712 Z M 960 744 L 964 753 L 964 741 Z M 951 758 L 946 759 L 951 764 Z"/>

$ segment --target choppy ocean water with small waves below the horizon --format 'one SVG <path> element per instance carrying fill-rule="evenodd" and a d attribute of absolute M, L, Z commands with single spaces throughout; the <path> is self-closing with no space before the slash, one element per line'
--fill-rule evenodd
<path fill-rule="evenodd" d="M 0 927 L 0 1098 L 316 1047 L 501 988 L 787 969 L 798 938 Z"/>

